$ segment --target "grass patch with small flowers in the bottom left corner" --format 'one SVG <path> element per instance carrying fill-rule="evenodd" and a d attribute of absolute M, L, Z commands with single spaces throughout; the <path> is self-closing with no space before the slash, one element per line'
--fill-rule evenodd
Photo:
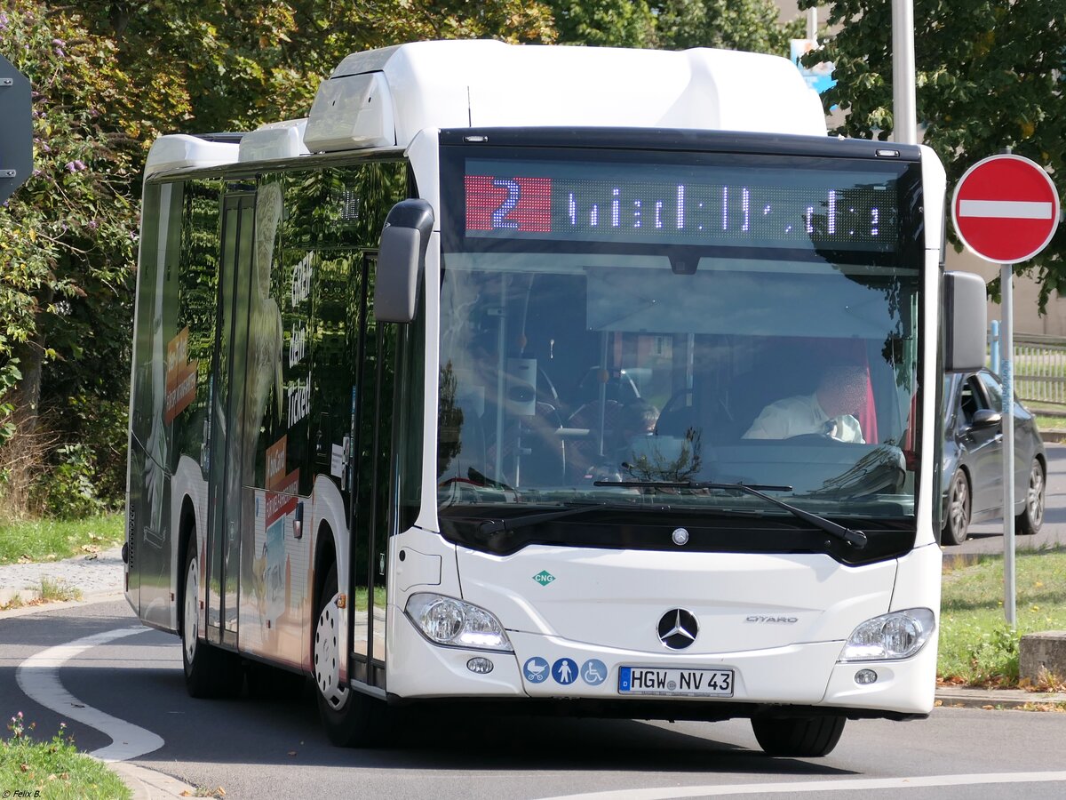
<path fill-rule="evenodd" d="M 102 762 L 78 752 L 65 726 L 43 741 L 34 740 L 33 727 L 23 723 L 19 711 L 7 723 L 9 737 L 0 739 L 0 789 L 4 796 L 10 793 L 11 797 L 45 800 L 128 800 L 132 796 Z"/>

